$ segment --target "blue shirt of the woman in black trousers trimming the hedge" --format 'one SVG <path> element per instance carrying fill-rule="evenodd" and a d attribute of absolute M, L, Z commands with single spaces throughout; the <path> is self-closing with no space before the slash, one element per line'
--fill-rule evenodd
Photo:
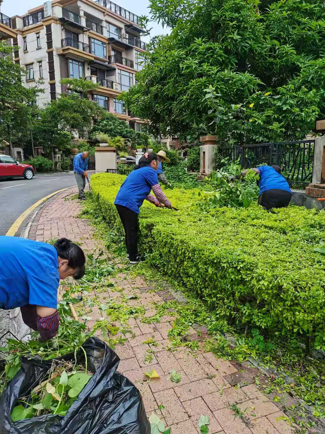
<path fill-rule="evenodd" d="M 122 205 L 139 214 L 140 206 L 150 193 L 151 187 L 156 184 L 158 184 L 157 171 L 151 166 L 135 169 L 121 185 L 114 204 Z"/>

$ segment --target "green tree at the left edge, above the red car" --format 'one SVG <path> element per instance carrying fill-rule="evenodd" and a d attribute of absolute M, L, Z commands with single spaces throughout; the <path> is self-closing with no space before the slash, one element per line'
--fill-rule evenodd
<path fill-rule="evenodd" d="M 14 141 L 26 141 L 30 136 L 37 112 L 38 85 L 23 87 L 22 76 L 26 70 L 13 62 L 15 48 L 0 41 L 0 139 L 9 142 L 10 154 Z"/>

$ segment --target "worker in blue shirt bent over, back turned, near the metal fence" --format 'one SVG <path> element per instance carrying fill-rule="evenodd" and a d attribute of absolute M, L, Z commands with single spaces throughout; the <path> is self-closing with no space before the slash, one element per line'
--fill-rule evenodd
<path fill-rule="evenodd" d="M 241 172 L 244 176 L 249 169 Z M 253 171 L 260 175 L 258 186 L 260 187 L 260 196 L 258 203 L 266 210 L 272 208 L 283 208 L 289 205 L 292 191 L 289 184 L 281 173 L 281 169 L 276 164 L 272 166 L 260 166 Z"/>

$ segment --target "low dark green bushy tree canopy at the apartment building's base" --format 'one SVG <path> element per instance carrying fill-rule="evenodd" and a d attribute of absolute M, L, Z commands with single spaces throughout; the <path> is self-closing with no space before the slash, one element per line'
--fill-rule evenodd
<path fill-rule="evenodd" d="M 130 141 L 132 148 L 148 148 L 149 137 L 143 132 L 134 131 L 129 124 L 108 112 L 102 112 L 101 118 L 91 128 L 91 133 L 104 133 L 109 137 L 122 137 Z"/>

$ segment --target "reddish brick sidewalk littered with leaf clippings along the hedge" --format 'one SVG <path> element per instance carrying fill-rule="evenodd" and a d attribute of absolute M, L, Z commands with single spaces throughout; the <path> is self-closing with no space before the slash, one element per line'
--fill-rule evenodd
<path fill-rule="evenodd" d="M 81 243 L 81 247 L 88 252 L 99 247 L 99 242 L 92 239 L 94 229 L 87 220 L 77 218 L 82 205 L 78 200 L 69 199 L 69 196 L 75 193 L 75 188 L 64 191 L 41 208 L 30 228 L 29 238 L 47 241 L 50 238 L 67 237 Z M 153 293 L 149 283 L 140 277 L 133 278 L 127 271 L 123 272 L 123 269 L 111 280 L 114 281 L 115 289 L 118 286 L 120 291 L 111 290 L 112 288 L 107 291 L 105 288 L 104 291 L 96 293 L 94 290 L 91 297 L 95 296 L 100 303 L 107 302 L 109 298 L 121 302 L 123 294 L 132 296 L 136 293 L 138 299 L 130 299 L 128 304 L 143 306 L 146 309 L 146 317 L 155 315 L 153 309 L 155 302 L 163 303 L 165 300 L 175 298 L 168 288 Z M 128 324 L 134 337 L 128 333 L 127 341 L 123 345 L 117 345 L 115 350 L 120 357 L 118 370 L 140 391 L 144 391 L 148 380 L 143 372 L 155 369 L 159 374 L 159 378 L 151 379 L 149 387 L 143 394 L 148 416 L 154 411 L 165 422 L 166 427 L 171 427 L 171 434 L 199 433 L 198 419 L 202 414 L 210 418 L 209 434 L 293 434 L 296 432 L 296 428 L 279 419 L 285 416 L 281 410 L 284 408 L 283 400 L 271 401 L 268 398 L 270 395 L 263 395 L 256 387 L 257 375 L 260 376 L 261 384 L 267 381 L 267 378 L 263 377 L 256 368 L 248 363 L 240 365 L 237 362 L 215 358 L 212 353 L 203 352 L 201 349 L 195 357 L 184 347 L 180 347 L 175 352 L 167 351 L 167 346 L 171 344 L 168 331 L 172 328 L 172 321 L 175 319 L 172 312 L 169 313 L 170 316 L 165 315 L 159 323 L 154 324 L 143 323 L 138 318 L 130 318 Z M 88 326 L 92 326 L 96 319 L 104 315 L 105 312 L 94 306 Z M 200 331 L 204 334 L 206 330 L 201 328 Z M 199 339 L 194 328 L 191 328 L 190 333 L 191 336 L 196 335 Z M 152 336 L 158 342 L 158 346 L 143 344 L 143 341 Z M 153 358 L 146 364 L 145 353 L 149 349 L 153 350 Z M 181 381 L 178 383 L 170 380 L 172 369 L 181 375 Z M 235 387 L 237 383 L 244 387 Z M 158 410 L 160 404 L 163 404 L 164 408 Z M 231 404 L 237 404 L 238 408 L 244 411 L 242 418 L 234 419 L 234 411 L 228 408 Z"/>

